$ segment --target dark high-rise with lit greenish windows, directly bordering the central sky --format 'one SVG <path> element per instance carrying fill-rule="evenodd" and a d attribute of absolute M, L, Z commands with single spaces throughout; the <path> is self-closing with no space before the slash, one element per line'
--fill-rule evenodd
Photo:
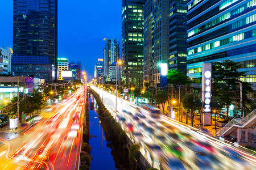
<path fill-rule="evenodd" d="M 127 87 L 143 83 L 143 5 L 146 0 L 122 0 L 122 80 Z"/>

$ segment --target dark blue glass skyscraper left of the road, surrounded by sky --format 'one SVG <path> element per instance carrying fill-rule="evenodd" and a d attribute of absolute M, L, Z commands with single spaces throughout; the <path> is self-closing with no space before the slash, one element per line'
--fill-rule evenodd
<path fill-rule="evenodd" d="M 44 74 L 40 58 L 45 60 L 44 63 L 53 65 L 53 68 L 47 69 L 57 70 L 57 0 L 14 0 L 13 5 L 12 59 L 15 60 L 15 75 L 24 74 L 52 81 L 52 74 Z M 24 63 L 19 63 L 20 59 Z M 34 71 L 31 72 L 31 69 Z"/>

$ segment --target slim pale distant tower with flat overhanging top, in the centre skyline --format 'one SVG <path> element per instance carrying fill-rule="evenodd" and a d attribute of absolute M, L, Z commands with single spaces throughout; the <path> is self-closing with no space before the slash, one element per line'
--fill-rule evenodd
<path fill-rule="evenodd" d="M 104 82 L 109 80 L 109 66 L 120 59 L 120 43 L 114 37 L 104 39 L 105 48 L 103 49 L 103 71 Z"/>

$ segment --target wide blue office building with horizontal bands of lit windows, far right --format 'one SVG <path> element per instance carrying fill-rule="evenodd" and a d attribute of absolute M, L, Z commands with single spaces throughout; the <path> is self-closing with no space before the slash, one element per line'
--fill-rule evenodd
<path fill-rule="evenodd" d="M 256 82 L 256 1 L 187 1 L 187 75 L 200 80 L 202 64 L 230 59 Z"/>

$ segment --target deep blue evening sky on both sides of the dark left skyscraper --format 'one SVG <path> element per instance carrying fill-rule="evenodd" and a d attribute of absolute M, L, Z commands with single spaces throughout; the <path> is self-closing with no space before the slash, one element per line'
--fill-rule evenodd
<path fill-rule="evenodd" d="M 81 61 L 93 77 L 106 37 L 121 41 L 121 0 L 59 0 L 59 57 Z M 0 0 L 0 46 L 13 47 L 13 0 Z"/>

